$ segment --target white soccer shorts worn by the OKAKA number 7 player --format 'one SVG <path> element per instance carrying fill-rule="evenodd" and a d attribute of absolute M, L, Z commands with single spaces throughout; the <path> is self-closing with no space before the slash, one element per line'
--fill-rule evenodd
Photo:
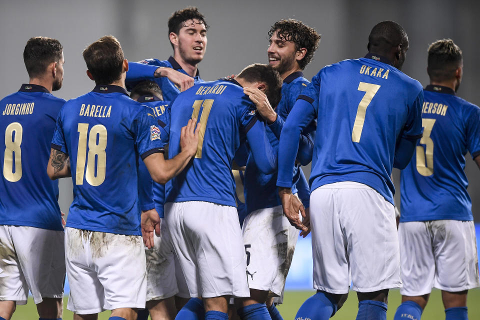
<path fill-rule="evenodd" d="M 395 210 L 368 185 L 344 181 L 310 195 L 313 287 L 335 294 L 401 287 Z M 351 274 L 351 277 L 350 277 Z"/>

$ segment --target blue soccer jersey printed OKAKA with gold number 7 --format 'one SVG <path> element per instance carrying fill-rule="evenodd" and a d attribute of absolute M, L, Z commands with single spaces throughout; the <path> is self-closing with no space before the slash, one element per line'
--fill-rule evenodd
<path fill-rule="evenodd" d="M 397 143 L 421 136 L 420 83 L 386 59 L 367 54 L 322 68 L 298 97 L 283 128 L 277 185 L 291 186 L 293 139 L 317 119 L 310 189 L 355 181 L 393 203 Z M 405 163 L 406 164 L 406 163 Z"/>

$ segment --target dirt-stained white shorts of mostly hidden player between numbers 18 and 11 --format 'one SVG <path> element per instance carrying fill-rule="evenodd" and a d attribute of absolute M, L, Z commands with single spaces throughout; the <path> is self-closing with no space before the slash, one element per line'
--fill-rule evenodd
<path fill-rule="evenodd" d="M 165 299 L 178 292 L 174 253 L 165 219 L 161 219 L 160 234 L 155 233 L 153 237 L 153 248 L 145 248 L 146 301 Z"/>

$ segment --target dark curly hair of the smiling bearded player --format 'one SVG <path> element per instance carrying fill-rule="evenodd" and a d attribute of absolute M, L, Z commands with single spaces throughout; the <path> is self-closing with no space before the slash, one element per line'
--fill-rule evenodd
<path fill-rule="evenodd" d="M 320 34 L 315 29 L 295 19 L 276 21 L 268 31 L 268 38 L 271 38 L 274 32 L 276 32 L 278 38 L 295 43 L 297 50 L 306 48 L 305 56 L 298 61 L 300 68 L 303 70 L 310 63 L 315 50 L 318 48 Z"/>

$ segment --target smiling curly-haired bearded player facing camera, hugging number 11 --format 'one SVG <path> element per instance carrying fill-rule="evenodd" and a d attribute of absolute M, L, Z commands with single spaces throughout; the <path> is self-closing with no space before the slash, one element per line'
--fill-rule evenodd
<path fill-rule="evenodd" d="M 257 103 L 257 109 L 267 123 L 273 123 L 277 117 L 283 122 L 293 107 L 296 97 L 309 83 L 303 77 L 302 70 L 311 61 L 320 36 L 313 28 L 293 19 L 276 21 L 268 35 L 270 38 L 267 49 L 269 64 L 278 71 L 283 80 L 281 100 L 275 110 L 268 103 Z M 258 97 L 254 96 L 254 98 L 258 100 Z M 263 99 L 263 101 L 268 100 Z M 302 132 L 300 137 L 301 154 L 298 157 L 302 158 L 299 160 L 303 162 L 302 164 L 307 164 L 311 160 L 314 138 L 306 132 L 308 129 Z M 266 132 L 271 145 L 277 149 L 280 130 L 274 132 L 268 126 Z M 292 192 L 296 193 L 297 182 L 299 180 L 305 182 L 305 177 L 299 162 L 295 164 L 293 170 Z M 245 299 L 243 303 L 265 303 L 270 297 L 267 307 L 271 316 L 276 316 L 275 319 L 279 318 L 279 313 L 272 300 L 273 297 L 279 297 L 283 291 L 298 237 L 296 228 L 290 225 L 286 216 L 283 215 L 276 178 L 276 170 L 271 174 L 263 174 L 253 158 L 248 158 L 245 169 L 247 216 L 242 232 L 245 250 L 249 254 L 247 270 L 250 298 Z M 302 198 L 306 206 L 308 206 L 308 198 L 309 192 L 306 192 Z"/>

